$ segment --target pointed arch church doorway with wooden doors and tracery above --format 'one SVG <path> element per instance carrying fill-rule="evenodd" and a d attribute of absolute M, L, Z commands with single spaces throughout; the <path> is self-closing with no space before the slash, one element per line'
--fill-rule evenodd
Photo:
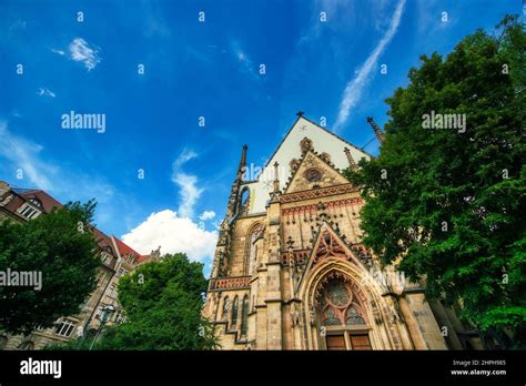
<path fill-rule="evenodd" d="M 328 351 L 370 351 L 371 325 L 351 280 L 338 272 L 326 275 L 315 292 L 320 335 Z"/>

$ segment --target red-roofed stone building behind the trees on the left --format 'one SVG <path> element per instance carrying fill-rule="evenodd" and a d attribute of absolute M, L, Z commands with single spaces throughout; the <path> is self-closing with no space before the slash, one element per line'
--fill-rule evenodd
<path fill-rule="evenodd" d="M 62 204 L 44 191 L 14 189 L 0 181 L 0 221 L 31 221 L 60 206 Z M 141 264 L 143 256 L 115 236 L 108 236 L 98 228 L 91 231 L 99 244 L 101 264 L 97 272 L 97 288 L 81 305 L 80 313 L 63 316 L 53 327 L 37 328 L 27 336 L 2 332 L 0 326 L 0 349 L 41 349 L 82 336 L 91 338 L 100 328 L 102 309 L 110 305 L 114 312 L 109 315 L 107 324 L 123 321 L 125 315 L 117 293 L 119 278 Z"/>

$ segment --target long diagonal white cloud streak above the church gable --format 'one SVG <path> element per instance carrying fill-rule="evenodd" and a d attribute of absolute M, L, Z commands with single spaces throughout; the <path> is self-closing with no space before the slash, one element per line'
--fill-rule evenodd
<path fill-rule="evenodd" d="M 398 29 L 402 13 L 404 11 L 404 6 L 405 0 L 399 0 L 396 4 L 393 18 L 391 19 L 391 24 L 387 32 L 385 32 L 384 37 L 375 47 L 367 60 L 362 64 L 360 70 L 356 72 L 356 75 L 351 81 L 348 81 L 347 85 L 345 87 L 343 99 L 340 103 L 336 123 L 334 124 L 334 131 L 342 129 L 342 126 L 347 121 L 351 110 L 362 98 L 362 92 L 370 80 L 373 69 L 376 67 L 380 55 L 384 52 L 385 48 L 391 42 L 391 39 L 393 39 Z"/>

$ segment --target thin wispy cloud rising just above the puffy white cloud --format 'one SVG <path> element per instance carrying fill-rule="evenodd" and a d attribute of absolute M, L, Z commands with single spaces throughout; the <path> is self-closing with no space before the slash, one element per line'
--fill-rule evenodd
<path fill-rule="evenodd" d="M 195 203 L 203 193 L 203 190 L 198 187 L 198 177 L 181 170 L 186 162 L 196 156 L 194 151 L 184 149 L 172 164 L 172 182 L 180 189 L 178 212 L 182 217 L 193 217 Z"/>

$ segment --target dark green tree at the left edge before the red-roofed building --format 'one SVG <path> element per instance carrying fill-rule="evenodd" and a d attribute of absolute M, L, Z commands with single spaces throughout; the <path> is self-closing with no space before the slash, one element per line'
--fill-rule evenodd
<path fill-rule="evenodd" d="M 27 223 L 0 223 L 0 272 L 41 272 L 41 288 L 0 286 L 0 328 L 18 334 L 79 313 L 100 264 L 89 227 L 95 203 L 69 203 Z"/>

